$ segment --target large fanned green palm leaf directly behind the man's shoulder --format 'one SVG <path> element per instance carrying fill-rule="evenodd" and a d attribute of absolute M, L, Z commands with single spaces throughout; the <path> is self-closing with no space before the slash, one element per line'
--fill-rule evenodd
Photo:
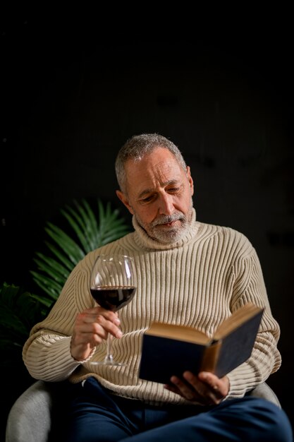
<path fill-rule="evenodd" d="M 110 203 L 104 206 L 98 199 L 98 213 L 94 213 L 84 199 L 80 203 L 73 201 L 73 205 L 61 209 L 61 215 L 68 222 L 66 232 L 47 222 L 45 232 L 51 241 L 44 241 L 44 244 L 49 255 L 37 252 L 34 258 L 37 270 L 30 271 L 45 295 L 34 294 L 33 297 L 47 308 L 59 297 L 69 273 L 87 253 L 130 232 L 130 227 L 119 217 L 119 211 L 113 210 Z"/>

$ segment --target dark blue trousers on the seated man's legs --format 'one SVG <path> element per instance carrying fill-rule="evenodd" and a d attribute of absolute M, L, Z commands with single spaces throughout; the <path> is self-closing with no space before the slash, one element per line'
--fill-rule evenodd
<path fill-rule="evenodd" d="M 68 442 L 293 442 L 286 413 L 264 399 L 152 407 L 111 395 L 94 378 L 70 389 Z"/>

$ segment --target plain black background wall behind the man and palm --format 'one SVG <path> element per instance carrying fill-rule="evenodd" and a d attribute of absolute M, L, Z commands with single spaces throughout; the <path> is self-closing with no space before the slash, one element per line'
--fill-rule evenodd
<path fill-rule="evenodd" d="M 44 224 L 73 199 L 111 201 L 128 220 L 116 153 L 159 132 L 192 169 L 198 219 L 257 249 L 281 324 L 283 364 L 269 384 L 293 419 L 292 25 L 288 11 L 214 23 L 185 13 L 4 16 L 1 281 L 30 287 Z"/>

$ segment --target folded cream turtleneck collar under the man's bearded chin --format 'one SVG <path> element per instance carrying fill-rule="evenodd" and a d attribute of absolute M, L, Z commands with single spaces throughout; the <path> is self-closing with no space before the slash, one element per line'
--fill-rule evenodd
<path fill-rule="evenodd" d="M 176 242 L 171 244 L 164 244 L 155 239 L 152 239 L 147 235 L 144 229 L 137 223 L 135 216 L 133 216 L 133 227 L 135 229 L 135 242 L 140 248 L 143 249 L 154 249 L 154 250 L 169 250 L 169 249 L 177 249 L 178 247 L 184 246 L 187 244 L 192 238 L 195 237 L 197 233 L 197 223 L 196 223 L 196 210 L 192 208 L 192 220 L 190 224 L 190 228 L 187 229 L 185 235 Z"/>

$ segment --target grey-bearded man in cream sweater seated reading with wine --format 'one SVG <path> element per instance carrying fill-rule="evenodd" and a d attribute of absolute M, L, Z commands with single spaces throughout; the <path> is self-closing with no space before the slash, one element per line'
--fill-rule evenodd
<path fill-rule="evenodd" d="M 164 136 L 130 138 L 118 152 L 116 177 L 134 231 L 78 263 L 23 349 L 33 378 L 68 384 L 65 440 L 290 442 L 283 410 L 246 395 L 281 365 L 280 329 L 252 244 L 229 227 L 196 220 L 190 167 Z M 133 257 L 137 292 L 114 313 L 94 304 L 90 272 L 99 253 L 122 251 Z M 262 323 L 250 359 L 227 376 L 185 371 L 166 385 L 138 378 L 142 334 L 152 321 L 213 335 L 247 302 L 264 308 Z M 92 364 L 109 333 L 125 364 Z"/>

